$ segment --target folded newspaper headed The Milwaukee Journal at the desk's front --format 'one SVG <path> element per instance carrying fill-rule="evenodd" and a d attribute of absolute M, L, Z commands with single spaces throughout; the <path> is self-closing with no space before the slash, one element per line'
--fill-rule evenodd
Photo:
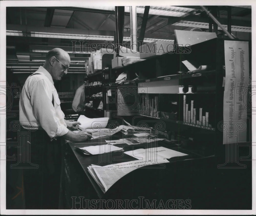
<path fill-rule="evenodd" d="M 88 166 L 88 171 L 101 190 L 105 193 L 116 181 L 132 172 L 133 170 L 153 164 L 168 163 L 167 159 L 158 158 L 157 161 L 129 161 L 118 164 L 111 164 L 106 166 L 91 165 Z"/>

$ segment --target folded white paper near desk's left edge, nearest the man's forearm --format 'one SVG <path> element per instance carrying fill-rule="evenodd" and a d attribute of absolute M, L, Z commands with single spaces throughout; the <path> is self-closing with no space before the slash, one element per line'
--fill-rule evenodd
<path fill-rule="evenodd" d="M 123 151 L 123 148 L 109 145 L 109 144 L 86 146 L 86 147 L 81 147 L 81 148 L 76 147 L 76 149 L 85 155 L 96 155 L 96 154 L 104 154 L 104 153 L 109 153 L 109 152 Z"/>

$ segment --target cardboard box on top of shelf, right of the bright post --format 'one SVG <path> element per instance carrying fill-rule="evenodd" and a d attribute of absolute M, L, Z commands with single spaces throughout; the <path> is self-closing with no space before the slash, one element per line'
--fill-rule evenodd
<path fill-rule="evenodd" d="M 155 55 L 163 55 L 167 52 L 172 52 L 174 42 L 171 41 L 152 41 L 140 46 L 141 59 L 147 59 Z"/>

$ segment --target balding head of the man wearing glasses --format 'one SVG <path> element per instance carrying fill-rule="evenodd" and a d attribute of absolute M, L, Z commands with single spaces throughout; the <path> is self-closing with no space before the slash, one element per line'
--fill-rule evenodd
<path fill-rule="evenodd" d="M 43 67 L 51 74 L 52 79 L 60 80 L 64 74 L 67 74 L 66 69 L 69 64 L 69 54 L 60 48 L 54 48 L 46 54 Z"/>

